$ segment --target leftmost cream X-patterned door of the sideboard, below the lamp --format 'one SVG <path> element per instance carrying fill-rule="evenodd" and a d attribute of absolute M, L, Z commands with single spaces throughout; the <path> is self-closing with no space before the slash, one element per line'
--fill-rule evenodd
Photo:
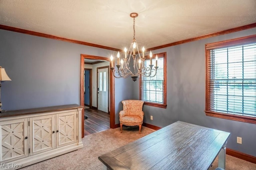
<path fill-rule="evenodd" d="M 28 156 L 28 119 L 0 122 L 0 162 Z"/>

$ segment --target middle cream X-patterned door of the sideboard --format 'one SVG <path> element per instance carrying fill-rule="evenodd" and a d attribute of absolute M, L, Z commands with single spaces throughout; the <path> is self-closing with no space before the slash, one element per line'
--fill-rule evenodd
<path fill-rule="evenodd" d="M 30 155 L 55 148 L 55 115 L 30 118 Z M 54 131 L 54 133 L 53 133 Z"/>

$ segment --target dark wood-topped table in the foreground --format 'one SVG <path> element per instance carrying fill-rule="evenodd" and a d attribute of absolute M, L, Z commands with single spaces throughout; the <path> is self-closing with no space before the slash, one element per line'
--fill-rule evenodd
<path fill-rule="evenodd" d="M 177 121 L 98 159 L 113 170 L 206 170 L 216 156 L 225 169 L 230 133 Z"/>

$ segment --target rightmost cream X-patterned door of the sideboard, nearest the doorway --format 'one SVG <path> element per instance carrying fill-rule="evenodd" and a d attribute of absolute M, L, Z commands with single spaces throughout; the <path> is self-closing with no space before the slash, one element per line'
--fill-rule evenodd
<path fill-rule="evenodd" d="M 59 113 L 56 115 L 57 128 L 57 147 L 62 147 L 72 143 L 76 143 L 76 122 L 77 112 L 71 111 L 66 113 Z"/>

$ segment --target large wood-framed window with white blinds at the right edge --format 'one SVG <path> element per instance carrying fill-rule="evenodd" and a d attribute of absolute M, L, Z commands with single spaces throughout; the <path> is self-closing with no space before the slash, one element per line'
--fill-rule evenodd
<path fill-rule="evenodd" d="M 256 121 L 256 36 L 208 44 L 206 61 L 206 112 Z"/>

